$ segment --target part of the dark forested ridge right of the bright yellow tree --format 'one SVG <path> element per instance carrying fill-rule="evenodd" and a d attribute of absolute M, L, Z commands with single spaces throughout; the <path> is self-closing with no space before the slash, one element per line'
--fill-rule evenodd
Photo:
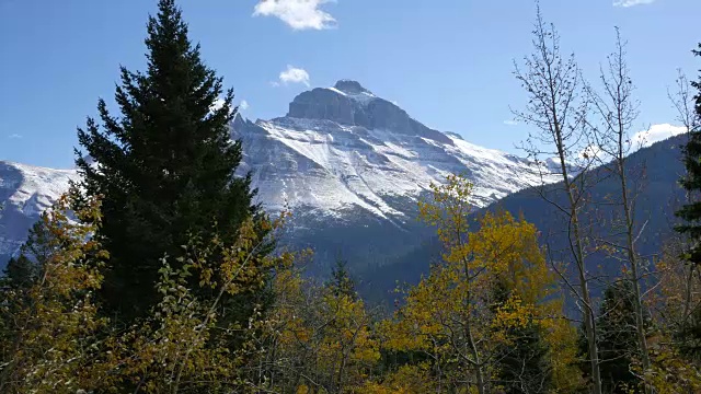
<path fill-rule="evenodd" d="M 681 146 L 687 137 L 676 136 L 643 148 L 632 153 L 627 160 L 629 185 L 634 196 L 633 218 L 635 220 L 636 250 L 643 258 L 654 264 L 654 257 L 662 251 L 664 242 L 676 236 L 674 225 L 678 223 L 675 211 L 685 200 L 685 190 L 678 184 L 685 174 Z M 599 182 L 590 189 L 589 199 L 600 204 L 584 212 L 586 227 L 590 234 L 609 236 L 609 241 L 624 244 L 620 223 L 620 206 L 611 206 L 610 201 L 620 200 L 620 181 L 608 176 L 604 167 L 593 170 L 591 177 Z M 641 177 L 642 175 L 642 177 Z M 633 182 L 633 179 L 640 181 Z M 547 187 L 549 198 L 563 201 L 565 197 L 562 184 Z M 512 212 L 524 212 L 526 220 L 536 224 L 543 233 L 543 242 L 550 244 L 553 253 L 566 251 L 568 242 L 562 229 L 562 218 L 556 209 L 539 198 L 532 189 L 519 190 L 499 200 L 493 207 Z M 567 252 L 564 252 L 568 256 Z M 606 276 L 620 275 L 620 263 L 605 256 L 594 256 L 589 262 L 589 270 Z"/>

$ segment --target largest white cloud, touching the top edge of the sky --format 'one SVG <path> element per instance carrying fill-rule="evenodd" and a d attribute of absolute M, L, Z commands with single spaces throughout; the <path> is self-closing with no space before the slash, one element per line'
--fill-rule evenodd
<path fill-rule="evenodd" d="M 324 30 L 336 25 L 336 20 L 319 8 L 335 0 L 261 0 L 253 16 L 276 16 L 292 30 Z"/>

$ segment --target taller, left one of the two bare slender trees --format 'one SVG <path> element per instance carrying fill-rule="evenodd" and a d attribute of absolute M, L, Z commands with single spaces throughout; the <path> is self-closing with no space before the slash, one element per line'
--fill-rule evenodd
<path fill-rule="evenodd" d="M 535 51 L 524 59 L 526 68 L 524 72 L 516 65 L 515 76 L 529 94 L 529 102 L 526 111 L 515 112 L 515 115 L 518 119 L 539 129 L 539 132 L 529 136 L 528 146 L 525 147 L 529 155 L 535 158 L 537 163 L 544 153 L 554 154 L 560 161 L 560 169 L 555 174 L 561 176 L 564 184 L 566 202 L 562 205 L 549 199 L 545 192 L 541 192 L 541 196 L 567 218 L 571 258 L 575 264 L 579 282 L 579 290 L 574 293 L 583 304 L 594 393 L 601 394 L 596 320 L 585 265 L 585 235 L 581 220 L 587 170 L 591 161 L 588 161 L 575 177 L 571 176 L 568 167 L 570 161 L 577 159 L 579 152 L 586 148 L 586 144 L 581 144 L 586 140 L 586 121 L 584 121 L 586 107 L 577 104 L 578 68 L 574 56 L 563 59 L 560 54 L 558 32 L 554 26 L 545 25 L 540 7 L 538 7 L 532 43 Z M 547 146 L 551 150 L 543 151 L 541 146 Z"/>

